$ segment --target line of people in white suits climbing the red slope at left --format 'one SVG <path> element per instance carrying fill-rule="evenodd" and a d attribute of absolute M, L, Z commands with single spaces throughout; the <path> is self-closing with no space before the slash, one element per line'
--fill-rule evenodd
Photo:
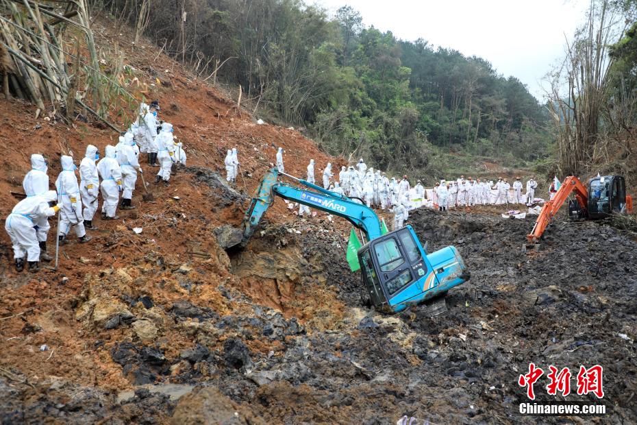
<path fill-rule="evenodd" d="M 170 179 L 171 165 L 179 162 L 186 164 L 186 154 L 181 143 L 174 143 L 173 126 L 170 123 L 156 121 L 158 102 L 150 106 L 142 104 L 143 111 L 138 123 L 134 123 L 129 130 L 118 138 L 116 146 L 105 147 L 105 157 L 99 159 L 99 149 L 88 145 L 82 161 L 79 162 L 79 182 L 75 170 L 76 165 L 71 156 L 60 158 L 62 171 L 55 180 L 55 191 L 49 190 L 48 164 L 41 154 L 31 156 L 32 169 L 25 175 L 23 189 L 25 199 L 13 208 L 5 221 L 5 230 L 9 234 L 13 250 L 16 270 L 25 267 L 25 256 L 29 270 L 37 271 L 40 261 L 50 261 L 47 253 L 47 239 L 50 230 L 48 217 L 59 212 L 58 242 L 65 243 L 68 233 L 73 229 L 80 243 L 90 241 L 86 230 L 97 230 L 93 222 L 99 208 L 99 194 L 102 195 L 101 218 L 118 219 L 116 210 L 134 209 L 132 205 L 137 173 L 143 173 L 138 156 L 139 145 L 147 151 L 149 164 L 160 160 L 161 165 L 155 183 Z M 149 115 L 150 114 L 150 115 Z M 152 118 L 149 118 L 152 117 Z M 155 120 L 153 123 L 153 119 Z M 153 143 L 149 144 L 149 132 L 141 130 L 139 122 L 145 125 L 155 125 Z M 158 128 L 159 132 L 158 132 Z M 157 146 L 158 155 L 150 150 Z M 176 152 L 176 154 L 175 154 Z"/>

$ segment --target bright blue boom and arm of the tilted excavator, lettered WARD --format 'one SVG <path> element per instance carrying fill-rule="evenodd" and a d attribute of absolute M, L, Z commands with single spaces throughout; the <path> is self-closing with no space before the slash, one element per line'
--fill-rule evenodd
<path fill-rule="evenodd" d="M 243 217 L 242 246 L 245 246 L 251 238 L 264 213 L 274 202 L 275 196 L 343 217 L 353 226 L 362 230 L 368 241 L 382 235 L 380 220 L 371 208 L 358 204 L 344 195 L 327 191 L 316 184 L 286 175 L 313 190 L 301 189 L 279 182 L 277 180 L 279 171 L 276 168 L 269 170 L 262 178 L 250 207 Z"/>

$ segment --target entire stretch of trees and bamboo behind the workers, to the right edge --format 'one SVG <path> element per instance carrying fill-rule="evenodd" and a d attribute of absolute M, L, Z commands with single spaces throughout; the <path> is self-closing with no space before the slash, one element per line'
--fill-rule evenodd
<path fill-rule="evenodd" d="M 257 118 L 294 125 L 328 154 L 418 177 L 499 167 L 548 176 L 631 173 L 637 136 L 635 0 L 593 0 L 547 64 L 547 101 L 488 58 L 400 40 L 349 6 L 301 0 L 97 0 L 135 38 L 213 84 Z"/>

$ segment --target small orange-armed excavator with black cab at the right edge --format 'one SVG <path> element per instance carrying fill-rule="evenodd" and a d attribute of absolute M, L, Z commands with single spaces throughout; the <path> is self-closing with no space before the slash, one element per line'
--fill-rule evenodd
<path fill-rule="evenodd" d="M 604 175 L 590 179 L 588 189 L 577 177 L 567 177 L 555 197 L 544 204 L 540 216 L 527 239 L 538 243 L 549 223 L 560 210 L 566 199 L 573 193 L 575 199 L 569 201 L 571 219 L 601 219 L 612 214 L 632 213 L 632 197 L 626 195 L 626 182 L 621 175 Z"/>

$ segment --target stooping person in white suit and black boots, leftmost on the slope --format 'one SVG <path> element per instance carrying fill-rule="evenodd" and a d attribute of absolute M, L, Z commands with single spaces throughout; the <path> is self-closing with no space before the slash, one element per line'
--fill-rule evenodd
<path fill-rule="evenodd" d="M 36 223 L 46 221 L 48 217 L 60 210 L 60 205 L 49 206 L 49 202 L 54 204 L 57 200 L 58 194 L 55 191 L 25 197 L 14 206 L 5 220 L 4 228 L 11 238 L 17 271 L 24 269 L 25 253 L 29 262 L 29 271 L 40 269 L 41 252 Z"/>

